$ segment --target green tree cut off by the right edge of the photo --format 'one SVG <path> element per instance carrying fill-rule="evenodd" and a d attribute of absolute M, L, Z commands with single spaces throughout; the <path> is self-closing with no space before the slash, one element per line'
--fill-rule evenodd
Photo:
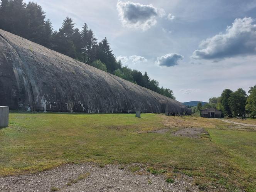
<path fill-rule="evenodd" d="M 246 100 L 246 111 L 249 113 L 250 117 L 255 118 L 256 116 L 256 85 L 251 87 L 248 91 L 250 95 Z"/>

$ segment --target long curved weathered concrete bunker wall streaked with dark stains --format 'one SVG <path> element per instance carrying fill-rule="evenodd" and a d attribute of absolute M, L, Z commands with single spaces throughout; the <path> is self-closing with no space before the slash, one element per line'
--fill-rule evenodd
<path fill-rule="evenodd" d="M 185 113 L 173 99 L 0 30 L 0 105 L 11 110 Z"/>

